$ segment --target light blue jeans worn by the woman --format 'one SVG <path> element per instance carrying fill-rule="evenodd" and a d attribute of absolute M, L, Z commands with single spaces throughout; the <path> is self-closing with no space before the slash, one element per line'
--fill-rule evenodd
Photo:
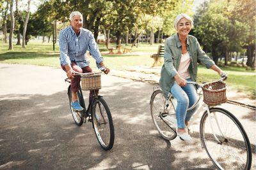
<path fill-rule="evenodd" d="M 186 80 L 192 81 L 190 78 Z M 197 108 L 195 107 L 193 110 L 187 111 L 188 108 L 193 106 L 193 104 L 197 101 L 195 86 L 192 84 L 187 84 L 184 87 L 180 87 L 175 81 L 170 92 L 173 97 L 177 99 L 176 118 L 178 128 L 184 129 L 186 127 L 185 122 L 189 122 L 191 116 L 193 113 L 195 113 Z"/>

